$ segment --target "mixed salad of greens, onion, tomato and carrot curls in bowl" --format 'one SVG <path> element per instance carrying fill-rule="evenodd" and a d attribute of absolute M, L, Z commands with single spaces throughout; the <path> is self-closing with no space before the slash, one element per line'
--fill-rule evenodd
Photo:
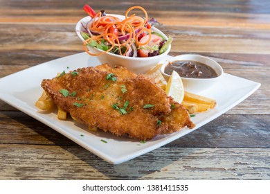
<path fill-rule="evenodd" d="M 142 10 L 145 17 L 129 15 L 134 9 Z M 88 5 L 84 6 L 84 11 L 89 14 L 91 20 L 82 24 L 84 30 L 80 33 L 84 38 L 84 50 L 89 55 L 110 52 L 133 58 L 147 58 L 161 55 L 172 42 L 171 37 L 165 39 L 152 30 L 147 12 L 141 6 L 129 8 L 124 19 L 107 15 L 104 10 L 96 13 Z M 98 48 L 102 52 L 91 53 L 87 46 Z"/>

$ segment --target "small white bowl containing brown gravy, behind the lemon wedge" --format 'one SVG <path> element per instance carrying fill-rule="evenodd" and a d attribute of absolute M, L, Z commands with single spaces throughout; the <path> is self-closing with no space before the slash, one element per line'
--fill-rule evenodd
<path fill-rule="evenodd" d="M 201 62 L 203 64 L 208 65 L 209 67 L 212 67 L 215 72 L 217 73 L 217 77 L 216 78 L 183 78 L 181 77 L 181 80 L 183 82 L 183 87 L 187 90 L 187 91 L 192 91 L 192 92 L 196 92 L 196 91 L 204 91 L 206 89 L 209 89 L 210 87 L 212 87 L 213 85 L 215 85 L 215 83 L 217 83 L 217 80 L 219 80 L 219 78 L 221 78 L 221 76 L 223 75 L 223 69 L 220 66 L 220 64 L 218 64 L 217 62 L 215 62 L 215 60 L 212 60 L 210 58 L 206 58 L 204 56 L 201 55 L 178 55 L 174 58 L 171 58 L 170 60 L 167 60 L 166 62 L 164 62 L 161 66 L 161 73 L 163 74 L 163 77 L 165 78 L 165 80 L 169 80 L 170 75 L 168 75 L 167 73 L 164 72 L 165 67 L 170 63 L 170 62 L 174 62 L 174 61 L 179 61 L 179 60 L 190 60 L 190 61 L 196 61 L 196 62 Z"/>

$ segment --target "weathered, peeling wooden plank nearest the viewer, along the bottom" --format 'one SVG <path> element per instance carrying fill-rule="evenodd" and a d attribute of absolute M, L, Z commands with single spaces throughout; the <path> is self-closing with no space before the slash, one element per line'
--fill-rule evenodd
<path fill-rule="evenodd" d="M 269 159 L 260 148 L 159 148 L 114 166 L 78 146 L 0 144 L 0 179 L 270 179 Z"/>

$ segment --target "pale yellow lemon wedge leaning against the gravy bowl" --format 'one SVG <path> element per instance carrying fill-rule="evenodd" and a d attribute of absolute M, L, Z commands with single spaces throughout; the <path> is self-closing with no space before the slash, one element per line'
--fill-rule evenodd
<path fill-rule="evenodd" d="M 184 96 L 183 82 L 177 71 L 172 71 L 172 75 L 168 80 L 165 92 L 168 96 L 174 98 L 177 103 L 182 103 Z"/>

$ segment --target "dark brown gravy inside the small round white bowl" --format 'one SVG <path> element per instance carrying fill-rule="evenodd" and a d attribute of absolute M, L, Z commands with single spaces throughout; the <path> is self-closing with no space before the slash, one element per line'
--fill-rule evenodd
<path fill-rule="evenodd" d="M 172 71 L 177 71 L 180 77 L 183 78 L 216 78 L 217 72 L 211 67 L 201 62 L 191 60 L 177 60 L 169 62 L 165 67 L 164 72 L 168 75 Z"/>

